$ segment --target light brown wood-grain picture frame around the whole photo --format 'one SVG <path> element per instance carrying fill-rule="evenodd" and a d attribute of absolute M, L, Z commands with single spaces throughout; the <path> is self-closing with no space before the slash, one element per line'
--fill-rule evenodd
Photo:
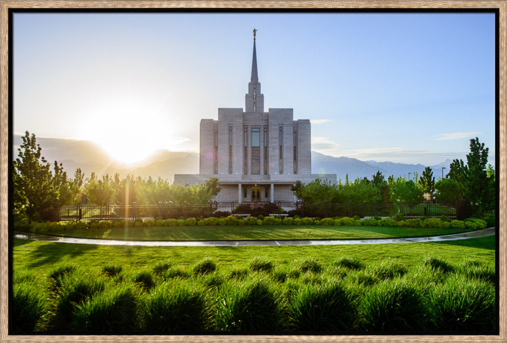
<path fill-rule="evenodd" d="M 499 227 L 497 235 L 499 239 L 498 269 L 499 274 L 499 334 L 498 335 L 11 335 L 8 332 L 8 285 L 9 285 L 9 230 L 8 230 L 8 165 L 9 154 L 9 77 L 12 77 L 9 70 L 9 11 L 19 8 L 33 9 L 136 9 L 136 8 L 192 8 L 192 9 L 496 9 L 499 16 L 499 59 L 498 59 L 498 97 L 499 97 L 499 139 L 497 141 L 496 153 L 499 154 Z M 507 0 L 492 1 L 259 1 L 249 2 L 224 0 L 224 1 L 122 1 L 122 0 L 94 0 L 94 1 L 44 1 L 44 0 L 1 0 L 1 159 L 0 159 L 0 281 L 1 299 L 0 306 L 0 339 L 3 342 L 72 342 L 72 341 L 129 341 L 129 342 L 505 342 L 507 341 L 507 241 L 506 224 L 507 216 Z"/>

